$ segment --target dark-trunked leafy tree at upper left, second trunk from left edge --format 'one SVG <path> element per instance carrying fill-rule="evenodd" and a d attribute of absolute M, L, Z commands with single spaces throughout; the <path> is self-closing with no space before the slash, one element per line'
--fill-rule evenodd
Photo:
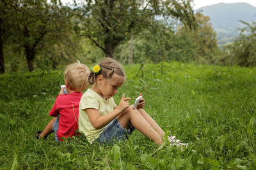
<path fill-rule="evenodd" d="M 22 31 L 22 46 L 26 52 L 26 59 L 28 62 L 29 71 L 32 71 L 33 60 L 36 52 L 51 46 L 65 34 L 61 34 L 63 24 L 65 25 L 66 16 L 63 8 L 58 4 L 48 4 L 47 1 L 33 3 L 33 1 L 24 1 L 22 11 L 28 11 L 31 15 L 22 16 L 22 24 L 20 31 Z M 48 39 L 45 39 L 48 36 Z M 51 36 L 51 37 L 49 37 Z M 47 41 L 47 43 L 44 43 Z"/>

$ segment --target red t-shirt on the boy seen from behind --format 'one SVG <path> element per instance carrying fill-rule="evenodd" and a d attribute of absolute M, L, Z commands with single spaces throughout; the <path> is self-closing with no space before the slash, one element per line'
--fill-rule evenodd
<path fill-rule="evenodd" d="M 57 136 L 67 138 L 77 134 L 79 103 L 82 93 L 73 92 L 72 94 L 61 94 L 57 96 L 54 106 L 52 106 L 49 115 L 58 117 L 60 115 L 59 129 Z"/>

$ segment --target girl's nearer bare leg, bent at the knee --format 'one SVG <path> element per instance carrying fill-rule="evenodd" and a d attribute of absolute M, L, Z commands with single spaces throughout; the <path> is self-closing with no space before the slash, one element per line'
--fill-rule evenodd
<path fill-rule="evenodd" d="M 140 114 L 140 111 L 133 110 L 129 106 L 127 110 L 118 115 L 118 122 L 126 129 L 131 121 L 131 124 L 142 134 L 150 138 L 154 143 L 161 145 L 162 138 L 156 130 L 148 123 L 148 121 Z"/>

